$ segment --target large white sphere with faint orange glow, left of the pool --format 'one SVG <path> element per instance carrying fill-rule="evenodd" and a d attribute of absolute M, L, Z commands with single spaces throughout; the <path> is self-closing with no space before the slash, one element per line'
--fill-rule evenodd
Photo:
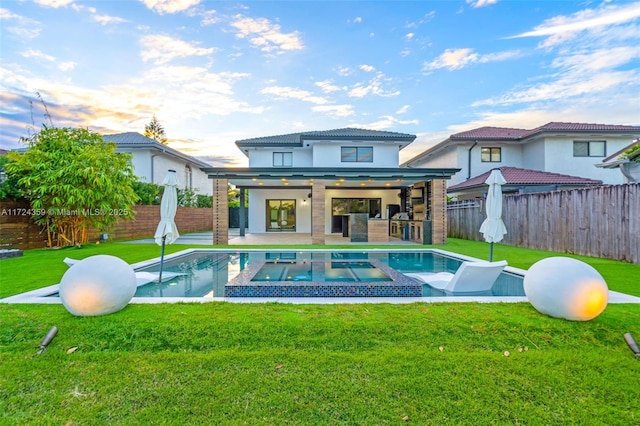
<path fill-rule="evenodd" d="M 60 281 L 60 300 L 76 316 L 98 316 L 123 309 L 136 292 L 136 274 L 124 260 L 91 256 L 74 264 Z"/>

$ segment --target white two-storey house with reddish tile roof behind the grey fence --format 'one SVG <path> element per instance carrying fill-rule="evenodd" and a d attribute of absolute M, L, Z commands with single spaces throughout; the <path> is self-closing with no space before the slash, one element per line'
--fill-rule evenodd
<path fill-rule="evenodd" d="M 517 167 L 623 183 L 615 171 L 596 168 L 640 136 L 640 126 L 547 123 L 532 130 L 480 127 L 456 133 L 403 163 L 406 167 L 456 167 L 458 185 L 496 167 Z"/>

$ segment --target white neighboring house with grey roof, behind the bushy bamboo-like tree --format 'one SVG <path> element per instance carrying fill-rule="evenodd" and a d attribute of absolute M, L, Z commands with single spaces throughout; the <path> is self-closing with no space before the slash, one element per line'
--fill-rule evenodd
<path fill-rule="evenodd" d="M 167 170 L 175 170 L 180 188 L 191 188 L 197 194 L 211 195 L 211 181 L 201 169 L 210 164 L 183 154 L 137 132 L 102 135 L 116 144 L 116 152 L 133 155 L 134 173 L 143 182 L 162 184 Z"/>

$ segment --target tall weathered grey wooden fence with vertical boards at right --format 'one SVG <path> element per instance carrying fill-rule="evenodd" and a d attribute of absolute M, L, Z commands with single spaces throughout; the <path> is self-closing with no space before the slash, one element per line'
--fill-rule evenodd
<path fill-rule="evenodd" d="M 640 184 L 505 195 L 503 244 L 640 263 Z M 484 201 L 450 204 L 447 234 L 483 241 Z"/>

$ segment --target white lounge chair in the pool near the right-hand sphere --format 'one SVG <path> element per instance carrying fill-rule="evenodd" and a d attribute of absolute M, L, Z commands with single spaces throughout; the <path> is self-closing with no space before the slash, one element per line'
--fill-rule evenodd
<path fill-rule="evenodd" d="M 455 274 L 451 272 L 410 272 L 414 278 L 446 293 L 479 293 L 491 290 L 507 262 L 462 262 Z"/>

